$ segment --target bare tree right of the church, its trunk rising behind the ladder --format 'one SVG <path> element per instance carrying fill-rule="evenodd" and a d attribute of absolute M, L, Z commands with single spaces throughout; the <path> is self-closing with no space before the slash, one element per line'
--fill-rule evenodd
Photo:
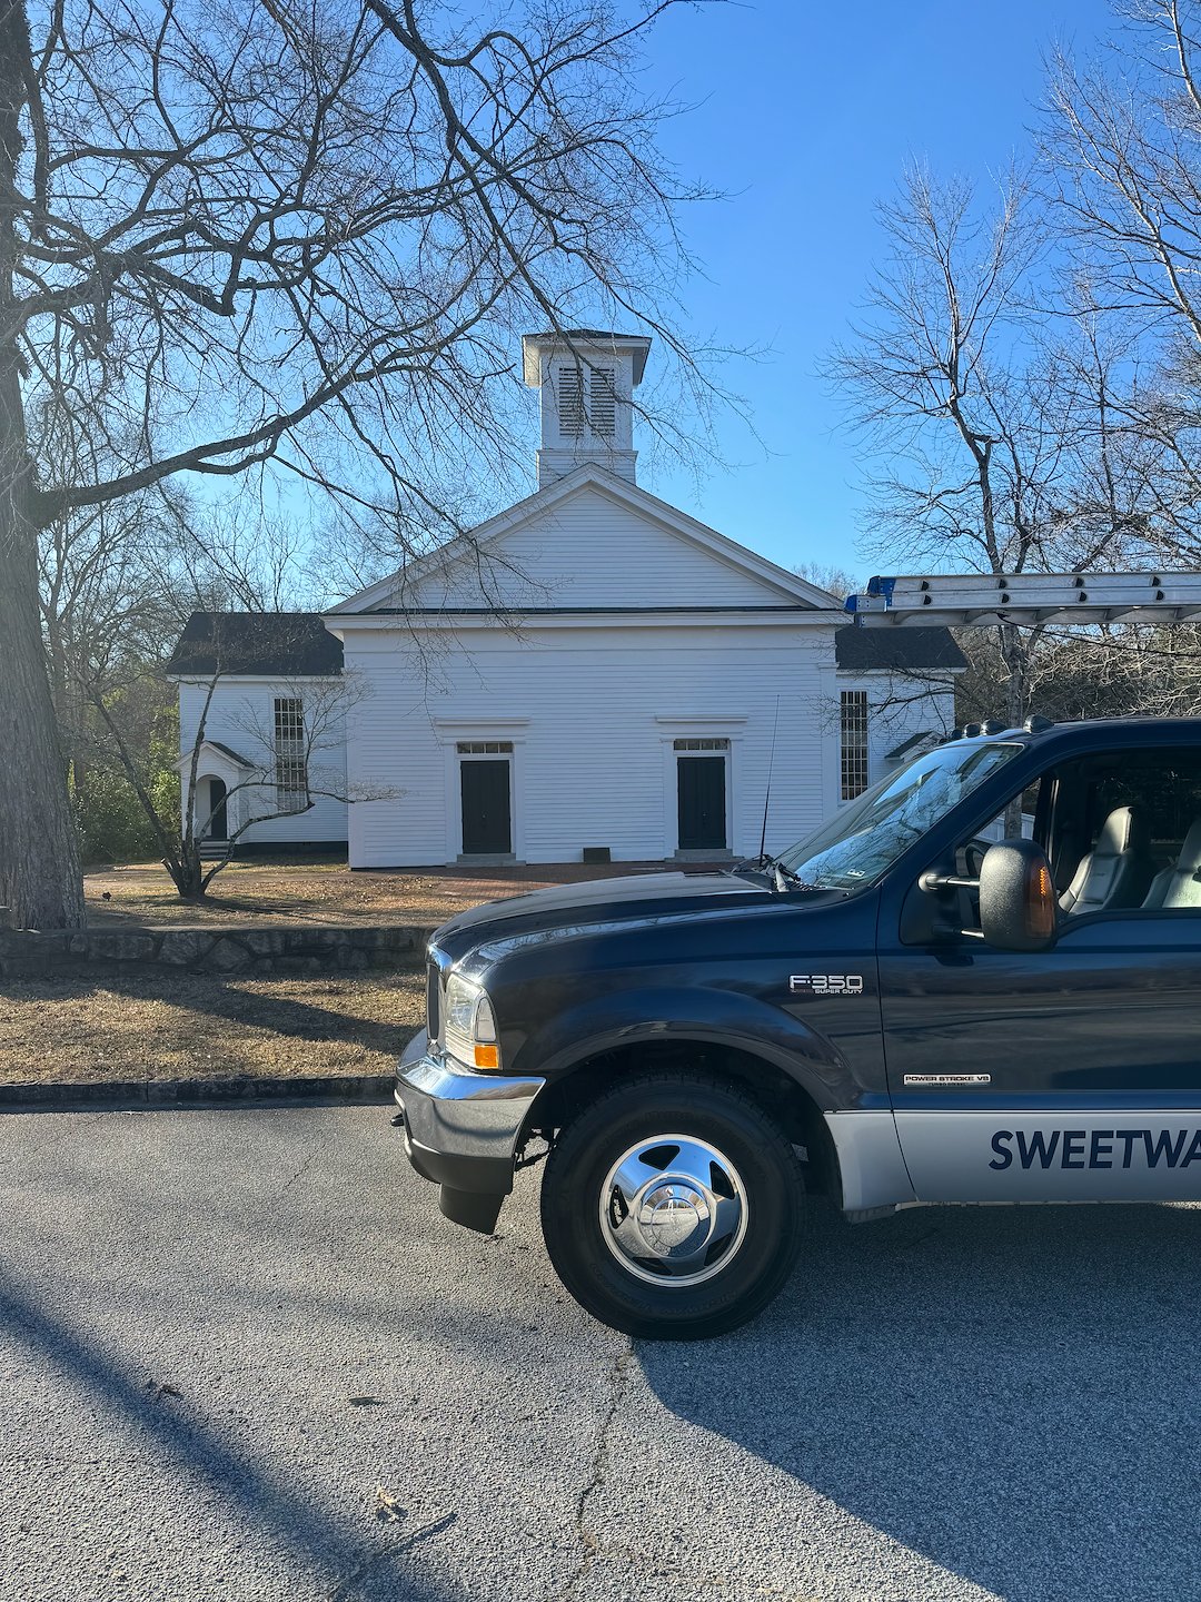
<path fill-rule="evenodd" d="M 1025 396 L 994 356 L 1020 336 L 1041 244 L 1025 186 L 1010 178 L 982 221 L 969 184 L 938 187 L 911 168 L 881 218 L 890 258 L 870 288 L 871 320 L 829 362 L 852 421 L 892 463 L 873 484 L 874 551 L 892 572 L 948 559 L 1022 572 L 1038 469 L 1020 439 Z M 1025 695 L 1025 655 L 1009 631 L 1014 702 Z"/>

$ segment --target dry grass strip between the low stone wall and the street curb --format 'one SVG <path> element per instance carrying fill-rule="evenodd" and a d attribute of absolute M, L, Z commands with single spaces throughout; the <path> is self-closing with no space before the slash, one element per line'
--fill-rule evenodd
<path fill-rule="evenodd" d="M 423 1020 L 421 974 L 10 979 L 0 1083 L 391 1073 Z"/>

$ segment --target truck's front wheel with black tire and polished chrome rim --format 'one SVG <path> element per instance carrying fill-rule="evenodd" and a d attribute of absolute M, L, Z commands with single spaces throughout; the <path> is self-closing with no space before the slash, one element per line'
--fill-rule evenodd
<path fill-rule="evenodd" d="M 626 1334 L 700 1341 L 780 1293 L 801 1245 L 801 1163 L 737 1086 L 701 1073 L 621 1080 L 546 1160 L 551 1262 L 580 1306 Z"/>

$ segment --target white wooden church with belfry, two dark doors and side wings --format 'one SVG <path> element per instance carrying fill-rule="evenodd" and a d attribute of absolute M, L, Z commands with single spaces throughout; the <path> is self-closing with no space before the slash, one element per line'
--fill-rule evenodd
<path fill-rule="evenodd" d="M 528 335 L 528 498 L 323 615 L 189 620 L 170 673 L 207 833 L 346 841 L 352 868 L 722 860 L 757 854 L 769 767 L 778 851 L 951 727 L 945 630 L 855 630 L 639 487 L 649 348 Z"/>

